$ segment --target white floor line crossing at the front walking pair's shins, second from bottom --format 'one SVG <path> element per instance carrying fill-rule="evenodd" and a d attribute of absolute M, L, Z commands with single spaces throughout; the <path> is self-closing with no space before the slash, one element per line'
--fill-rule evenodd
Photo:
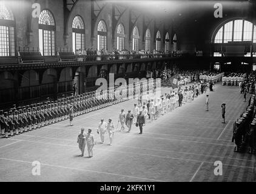
<path fill-rule="evenodd" d="M 15 139 L 17 140 L 17 139 Z M 77 146 L 71 146 L 71 145 L 66 145 L 66 144 L 53 144 L 53 143 L 49 143 L 49 142 L 38 142 L 38 141 L 29 141 L 29 140 L 21 140 L 21 141 L 27 141 L 27 142 L 35 142 L 35 143 L 39 143 L 39 144 L 49 144 L 49 145 L 54 145 L 54 146 L 67 146 L 67 147 L 77 147 Z M 116 150 L 108 150 L 108 149 L 95 149 L 95 150 L 104 150 L 104 151 L 109 151 L 109 152 L 123 152 L 123 151 L 116 151 Z M 130 154 L 136 154 L 136 155 L 146 155 L 146 154 L 142 154 L 142 153 L 133 153 L 133 152 L 123 152 L 123 153 L 130 153 Z M 166 158 L 166 159 L 180 159 L 180 160 L 184 160 L 184 161 L 192 161 L 192 162 L 205 162 L 208 164 L 214 164 L 214 162 L 208 162 L 208 161 L 198 161 L 195 159 L 184 159 L 184 158 L 174 158 L 174 157 L 166 157 L 166 156 L 159 156 L 159 155 L 146 155 L 146 156 L 154 156 L 154 157 L 158 157 L 158 158 Z M 234 167 L 244 167 L 244 168 L 249 168 L 252 169 L 252 167 L 249 166 L 238 166 L 238 165 L 234 165 L 234 164 L 223 164 L 226 166 L 234 166 Z"/>

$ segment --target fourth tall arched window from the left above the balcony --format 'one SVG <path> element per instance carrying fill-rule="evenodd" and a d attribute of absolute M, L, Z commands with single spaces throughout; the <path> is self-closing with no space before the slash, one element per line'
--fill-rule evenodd
<path fill-rule="evenodd" d="M 107 48 L 107 26 L 106 23 L 101 20 L 98 24 L 98 50 Z"/>

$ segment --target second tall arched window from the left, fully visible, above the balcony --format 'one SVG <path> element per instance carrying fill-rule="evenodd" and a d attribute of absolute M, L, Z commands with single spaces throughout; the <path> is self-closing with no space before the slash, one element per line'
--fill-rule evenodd
<path fill-rule="evenodd" d="M 55 20 L 49 10 L 39 15 L 39 51 L 44 56 L 55 55 Z"/>

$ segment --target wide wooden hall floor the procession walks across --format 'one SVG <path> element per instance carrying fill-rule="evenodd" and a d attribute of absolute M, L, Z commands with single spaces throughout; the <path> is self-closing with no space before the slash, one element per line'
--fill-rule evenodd
<path fill-rule="evenodd" d="M 169 89 L 163 88 L 165 93 Z M 115 126 L 121 108 L 132 109 L 134 100 L 78 116 L 69 121 L 0 139 L 0 181 L 255 181 L 255 155 L 234 153 L 232 124 L 248 102 L 237 87 L 217 84 L 206 94 L 175 109 L 153 123 L 143 135 L 116 132 L 112 146 L 97 143 L 93 158 L 81 158 L 76 138 L 80 127 L 93 129 L 101 118 Z M 226 102 L 226 124 L 221 103 Z M 41 163 L 41 175 L 32 175 L 32 162 Z M 223 175 L 214 175 L 214 162 L 223 163 Z"/>

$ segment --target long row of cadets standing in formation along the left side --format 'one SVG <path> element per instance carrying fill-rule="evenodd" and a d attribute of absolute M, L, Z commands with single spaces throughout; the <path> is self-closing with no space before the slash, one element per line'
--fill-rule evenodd
<path fill-rule="evenodd" d="M 7 112 L 0 110 L 1 133 L 5 138 L 8 138 L 40 129 L 45 125 L 64 121 L 64 119 L 69 118 L 70 107 L 73 107 L 73 116 L 78 116 L 123 101 L 123 99 L 118 101 L 109 99 L 107 91 L 101 95 L 106 96 L 103 99 L 97 99 L 93 92 L 84 93 L 83 95 L 58 99 L 58 101 L 15 107 Z"/>

